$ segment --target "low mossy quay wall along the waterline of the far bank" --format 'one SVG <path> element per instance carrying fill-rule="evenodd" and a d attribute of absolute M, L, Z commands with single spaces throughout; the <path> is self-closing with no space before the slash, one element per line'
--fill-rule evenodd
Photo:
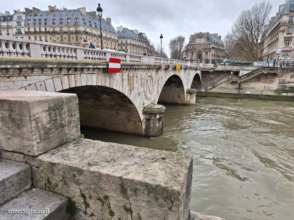
<path fill-rule="evenodd" d="M 294 96 L 287 95 L 260 95 L 260 94 L 238 94 L 222 92 L 197 92 L 196 97 L 223 97 L 233 99 L 262 99 L 274 101 L 294 101 Z"/>

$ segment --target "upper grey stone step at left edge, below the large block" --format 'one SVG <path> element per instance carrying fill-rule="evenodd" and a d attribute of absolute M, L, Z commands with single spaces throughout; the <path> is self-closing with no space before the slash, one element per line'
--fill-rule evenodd
<path fill-rule="evenodd" d="M 0 205 L 28 189 L 32 183 L 31 167 L 13 160 L 0 162 Z"/>

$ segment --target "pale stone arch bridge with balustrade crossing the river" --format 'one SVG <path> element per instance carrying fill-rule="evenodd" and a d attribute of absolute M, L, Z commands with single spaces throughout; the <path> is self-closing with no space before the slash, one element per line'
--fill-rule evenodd
<path fill-rule="evenodd" d="M 83 126 L 157 136 L 163 131 L 161 104 L 193 105 L 195 88 L 201 88 L 195 63 L 16 38 L 0 41 L 0 89 L 75 93 Z M 109 57 L 121 59 L 120 73 L 108 72 Z"/>

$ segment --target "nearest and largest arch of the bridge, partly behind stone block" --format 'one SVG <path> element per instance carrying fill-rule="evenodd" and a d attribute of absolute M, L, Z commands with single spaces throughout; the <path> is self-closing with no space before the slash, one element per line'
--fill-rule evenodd
<path fill-rule="evenodd" d="M 75 93 L 82 126 L 143 134 L 143 104 L 124 83 L 99 74 L 71 74 L 30 84 L 23 89 Z"/>

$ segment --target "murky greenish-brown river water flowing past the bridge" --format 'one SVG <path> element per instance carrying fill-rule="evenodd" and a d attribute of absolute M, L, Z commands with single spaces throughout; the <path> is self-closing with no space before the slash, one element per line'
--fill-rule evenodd
<path fill-rule="evenodd" d="M 166 105 L 156 138 L 85 138 L 193 156 L 191 210 L 226 220 L 294 219 L 294 102 L 198 97 Z"/>

